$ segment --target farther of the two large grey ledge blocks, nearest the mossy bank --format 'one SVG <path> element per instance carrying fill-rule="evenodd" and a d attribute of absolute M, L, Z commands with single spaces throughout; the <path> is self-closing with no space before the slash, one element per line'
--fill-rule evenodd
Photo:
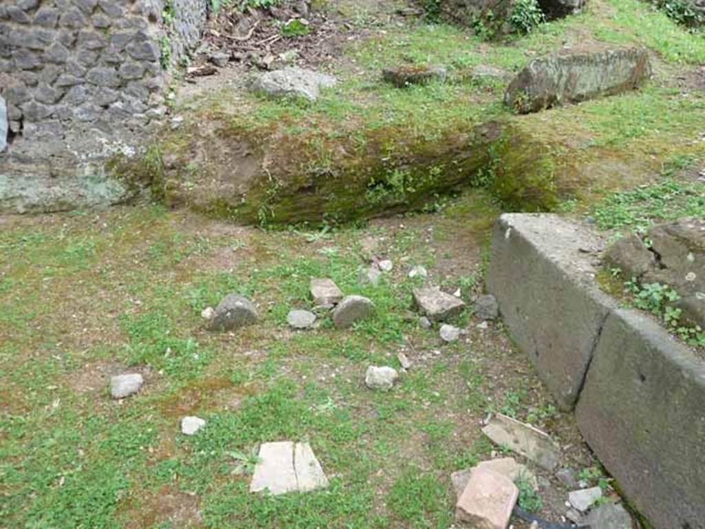
<path fill-rule="evenodd" d="M 487 286 L 505 323 L 564 409 L 575 405 L 611 298 L 594 285 L 593 233 L 556 215 L 503 214 Z"/>

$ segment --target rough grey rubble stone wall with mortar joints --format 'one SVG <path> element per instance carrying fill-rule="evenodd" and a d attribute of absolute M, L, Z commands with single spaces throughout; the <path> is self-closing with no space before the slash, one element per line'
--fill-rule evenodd
<path fill-rule="evenodd" d="M 0 0 L 0 212 L 104 202 L 104 183 L 55 206 L 42 186 L 92 185 L 106 159 L 145 145 L 166 113 L 162 66 L 188 54 L 206 21 L 207 0 Z"/>

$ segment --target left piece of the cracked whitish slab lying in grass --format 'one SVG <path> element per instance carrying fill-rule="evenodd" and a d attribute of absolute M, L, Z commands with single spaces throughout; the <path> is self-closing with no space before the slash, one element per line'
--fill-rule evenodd
<path fill-rule="evenodd" d="M 259 461 L 252 475 L 250 492 L 263 490 L 275 495 L 298 490 L 293 442 L 264 443 L 259 447 Z"/>

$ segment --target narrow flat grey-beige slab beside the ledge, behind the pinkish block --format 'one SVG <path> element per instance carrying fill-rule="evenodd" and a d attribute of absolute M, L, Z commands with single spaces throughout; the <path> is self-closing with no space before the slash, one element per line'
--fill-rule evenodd
<path fill-rule="evenodd" d="M 496 444 L 512 449 L 546 470 L 552 471 L 560 463 L 560 448 L 548 434 L 501 413 L 482 432 Z"/>

